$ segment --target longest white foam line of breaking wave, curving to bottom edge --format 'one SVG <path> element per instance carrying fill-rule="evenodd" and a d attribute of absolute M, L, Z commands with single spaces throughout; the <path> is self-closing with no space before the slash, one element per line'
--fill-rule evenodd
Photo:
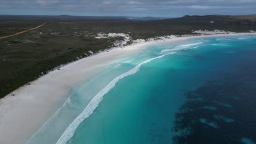
<path fill-rule="evenodd" d="M 161 55 L 161 56 L 158 56 L 158 57 L 154 57 L 154 58 L 148 59 L 147 61 L 144 61 L 144 62 L 136 65 L 136 67 L 134 67 L 133 69 L 127 71 L 126 73 L 121 74 L 118 77 L 115 77 L 115 79 L 110 81 L 106 87 L 104 87 L 100 92 L 98 92 L 95 95 L 95 97 L 85 107 L 84 111 L 82 113 L 80 113 L 80 115 L 77 118 L 75 118 L 75 120 L 68 126 L 68 128 L 62 134 L 62 136 L 60 137 L 60 139 L 57 141 L 56 144 L 64 144 L 64 143 L 67 143 L 69 139 L 71 139 L 71 137 L 75 133 L 75 130 L 78 128 L 79 124 L 82 123 L 84 121 L 84 119 L 88 118 L 94 112 L 94 110 L 96 109 L 98 104 L 100 104 L 100 102 L 102 101 L 103 96 L 105 94 L 107 94 L 111 89 L 113 89 L 115 87 L 115 84 L 119 80 L 123 79 L 126 76 L 136 74 L 137 71 L 139 71 L 139 69 L 141 68 L 142 64 L 146 64 L 146 63 L 148 63 L 150 61 L 153 61 L 154 59 L 165 57 L 166 55 L 172 55 L 173 53 L 175 53 L 175 52 L 167 53 L 165 55 Z"/>

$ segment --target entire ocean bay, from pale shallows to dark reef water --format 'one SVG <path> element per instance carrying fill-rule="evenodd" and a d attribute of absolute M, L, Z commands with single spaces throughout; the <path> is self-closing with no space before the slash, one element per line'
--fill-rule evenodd
<path fill-rule="evenodd" d="M 256 142 L 256 35 L 152 45 L 75 86 L 30 143 Z"/>

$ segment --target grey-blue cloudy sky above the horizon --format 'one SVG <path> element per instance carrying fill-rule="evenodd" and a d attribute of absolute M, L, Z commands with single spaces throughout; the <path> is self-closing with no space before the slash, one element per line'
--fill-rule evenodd
<path fill-rule="evenodd" d="M 155 16 L 256 14 L 256 0 L 0 0 L 0 14 Z"/>

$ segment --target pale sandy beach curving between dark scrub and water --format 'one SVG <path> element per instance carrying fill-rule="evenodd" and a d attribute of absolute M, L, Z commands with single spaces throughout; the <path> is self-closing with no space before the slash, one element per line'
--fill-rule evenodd
<path fill-rule="evenodd" d="M 193 37 L 179 37 L 147 41 L 142 44 L 125 46 L 124 49 L 112 49 L 109 52 L 80 59 L 63 66 L 60 70 L 51 71 L 31 85 L 25 85 L 0 100 L 0 143 L 26 143 L 30 137 L 59 109 L 69 95 L 69 89 L 89 79 L 104 66 L 139 51 L 148 45 L 177 43 L 191 38 L 245 35 L 216 34 Z"/>

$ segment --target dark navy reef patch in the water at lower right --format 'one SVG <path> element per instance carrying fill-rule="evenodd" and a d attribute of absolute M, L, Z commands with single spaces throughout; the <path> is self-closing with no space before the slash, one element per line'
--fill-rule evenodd
<path fill-rule="evenodd" d="M 176 113 L 173 143 L 256 142 L 256 62 L 187 93 Z"/>

